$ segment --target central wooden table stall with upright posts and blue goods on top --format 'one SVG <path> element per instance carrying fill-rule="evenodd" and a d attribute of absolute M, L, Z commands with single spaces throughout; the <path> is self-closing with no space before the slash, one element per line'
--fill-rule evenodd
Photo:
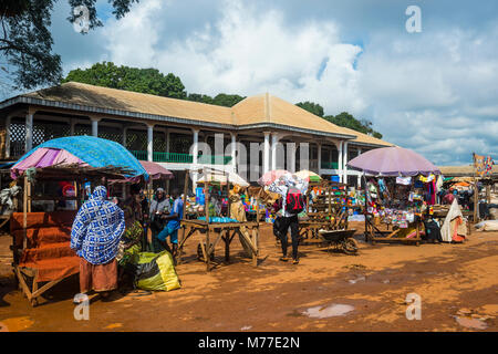
<path fill-rule="evenodd" d="M 211 201 L 210 195 L 214 190 L 218 192 L 218 196 L 222 197 L 222 191 L 226 191 L 228 196 L 228 190 L 230 181 L 228 179 L 228 174 L 219 171 L 212 168 L 203 168 L 196 171 L 200 175 L 198 179 L 204 183 L 201 198 L 197 196 L 198 205 L 195 209 L 197 212 L 188 214 L 187 208 L 193 207 L 191 201 L 188 202 L 187 191 L 188 191 L 188 180 L 190 171 L 187 170 L 185 176 L 185 190 L 184 190 L 184 219 L 181 220 L 181 236 L 178 242 L 178 253 L 177 263 L 181 262 L 181 254 L 185 243 L 193 235 L 199 232 L 204 235 L 204 240 L 200 242 L 199 258 L 206 263 L 206 270 L 211 269 L 211 262 L 214 262 L 214 252 L 216 246 L 220 240 L 225 242 L 225 261 L 230 260 L 230 243 L 235 236 L 245 240 L 245 243 L 250 248 L 252 256 L 252 264 L 258 264 L 259 256 L 259 222 L 258 221 L 237 221 L 230 218 L 230 201 L 228 200 L 228 206 L 226 211 L 221 208 L 217 208 Z M 224 175 L 225 178 L 214 177 L 216 175 Z M 225 183 L 224 183 L 225 181 Z M 212 208 L 211 208 L 212 207 Z M 201 216 L 204 214 L 204 216 Z M 190 218 L 188 218 L 190 216 Z M 246 232 L 248 231 L 248 232 Z M 249 236 L 248 236 L 249 235 Z"/>

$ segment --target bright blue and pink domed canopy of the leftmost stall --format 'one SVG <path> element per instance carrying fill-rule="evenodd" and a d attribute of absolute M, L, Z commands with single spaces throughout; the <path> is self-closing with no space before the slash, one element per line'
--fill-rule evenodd
<path fill-rule="evenodd" d="M 12 179 L 18 178 L 31 167 L 74 165 L 92 167 L 122 167 L 128 170 L 127 178 L 143 177 L 148 174 L 141 163 L 122 145 L 93 136 L 60 137 L 40 144 L 24 154 L 10 169 Z"/>

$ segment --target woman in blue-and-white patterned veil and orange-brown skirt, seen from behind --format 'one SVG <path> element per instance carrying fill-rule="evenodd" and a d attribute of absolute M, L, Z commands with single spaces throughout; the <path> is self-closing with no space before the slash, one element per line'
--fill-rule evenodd
<path fill-rule="evenodd" d="M 107 189 L 98 186 L 85 201 L 71 229 L 71 248 L 80 259 L 80 291 L 92 290 L 107 298 L 117 288 L 117 248 L 125 230 L 123 210 L 106 200 Z"/>

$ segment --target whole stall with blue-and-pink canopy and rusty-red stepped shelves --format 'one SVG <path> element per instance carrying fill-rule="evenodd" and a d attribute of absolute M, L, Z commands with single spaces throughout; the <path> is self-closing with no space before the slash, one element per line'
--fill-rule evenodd
<path fill-rule="evenodd" d="M 10 222 L 13 271 L 33 305 L 46 290 L 79 272 L 79 258 L 70 248 L 71 227 L 92 187 L 113 179 L 148 179 L 122 145 L 89 136 L 45 142 L 10 173 L 22 188 L 22 212 L 13 212 Z"/>

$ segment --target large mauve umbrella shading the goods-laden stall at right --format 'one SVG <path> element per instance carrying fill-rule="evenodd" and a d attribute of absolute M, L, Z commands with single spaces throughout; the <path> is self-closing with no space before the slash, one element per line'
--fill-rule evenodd
<path fill-rule="evenodd" d="M 366 152 L 350 160 L 347 166 L 378 176 L 440 175 L 440 170 L 427 159 L 415 152 L 397 146 Z"/>

